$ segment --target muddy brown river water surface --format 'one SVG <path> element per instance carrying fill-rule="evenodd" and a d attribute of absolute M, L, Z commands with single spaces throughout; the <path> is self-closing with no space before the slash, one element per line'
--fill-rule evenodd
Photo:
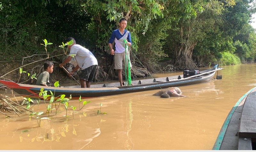
<path fill-rule="evenodd" d="M 78 100 L 72 100 L 69 105 L 77 107 L 74 118 L 73 110 L 69 108 L 67 118 L 61 105 L 56 115 L 56 110 L 50 113 L 50 120 L 41 120 L 40 127 L 27 112 L 4 112 L 11 117 L 0 114 L 0 149 L 211 150 L 231 108 L 256 85 L 256 64 L 222 68 L 220 80 L 179 87 L 187 97 L 152 96 L 158 89 L 90 98 L 81 110 Z M 48 117 L 44 104 L 32 106 L 35 112 L 44 111 L 40 117 Z M 97 110 L 107 115 L 97 115 Z"/>

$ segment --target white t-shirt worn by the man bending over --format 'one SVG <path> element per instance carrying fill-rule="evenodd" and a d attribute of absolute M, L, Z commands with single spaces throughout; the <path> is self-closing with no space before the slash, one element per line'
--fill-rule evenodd
<path fill-rule="evenodd" d="M 69 56 L 74 55 L 78 66 L 83 70 L 98 65 L 98 61 L 91 51 L 79 44 L 71 46 Z"/>

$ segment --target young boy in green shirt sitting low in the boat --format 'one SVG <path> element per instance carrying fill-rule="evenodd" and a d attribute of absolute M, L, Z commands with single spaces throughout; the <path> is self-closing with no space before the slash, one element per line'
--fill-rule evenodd
<path fill-rule="evenodd" d="M 44 72 L 42 72 L 36 81 L 36 85 L 51 86 L 49 81 L 50 74 L 53 71 L 53 63 L 51 61 L 44 62 Z"/>

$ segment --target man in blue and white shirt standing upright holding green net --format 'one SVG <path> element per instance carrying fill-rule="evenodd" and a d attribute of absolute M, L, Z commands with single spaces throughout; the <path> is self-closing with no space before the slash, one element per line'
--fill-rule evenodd
<path fill-rule="evenodd" d="M 128 60 L 130 64 L 130 68 L 132 68 L 132 64 L 130 61 L 130 55 L 128 55 L 128 60 L 125 61 L 125 51 L 128 54 L 128 48 L 125 50 L 126 43 L 128 46 L 132 45 L 130 32 L 125 30 L 127 25 L 127 20 L 122 18 L 119 20 L 119 28 L 112 32 L 112 35 L 108 41 L 108 47 L 110 49 L 110 54 L 115 55 L 115 69 L 117 70 L 118 80 L 120 82 L 120 86 L 123 86 L 123 64 L 126 64 L 126 68 L 128 68 Z M 116 51 L 114 51 L 112 47 L 112 43 L 115 41 Z M 124 42 L 125 41 L 125 42 Z M 127 42 L 128 41 L 128 42 Z M 125 61 L 126 63 L 123 63 Z M 126 76 L 128 77 L 128 70 L 126 70 Z"/>

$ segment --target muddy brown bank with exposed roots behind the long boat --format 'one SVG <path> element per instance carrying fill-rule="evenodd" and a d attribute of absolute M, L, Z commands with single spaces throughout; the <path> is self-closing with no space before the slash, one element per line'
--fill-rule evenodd
<path fill-rule="evenodd" d="M 54 62 L 53 72 L 50 74 L 50 81 L 53 83 L 59 81 L 59 84 L 63 85 L 73 85 L 77 82 L 72 78 L 69 77 L 68 74 L 65 72 L 64 69 L 59 67 L 58 62 Z M 40 75 L 41 72 L 44 71 L 44 61 L 41 62 L 23 62 L 22 61 L 14 61 L 14 62 L 0 62 L 0 76 L 6 79 L 12 80 L 14 82 L 19 82 L 22 84 L 36 84 L 36 79 L 31 79 L 31 76 L 36 73 L 36 77 Z M 76 66 L 74 65 L 74 61 L 70 61 L 64 67 L 65 69 L 70 72 L 72 68 Z M 106 65 L 106 64 L 101 64 Z M 102 82 L 102 81 L 117 81 L 117 71 L 114 70 L 114 65 L 108 66 L 101 66 L 99 64 L 97 69 L 97 74 L 93 82 Z M 22 68 L 22 72 L 20 74 L 20 68 Z M 76 71 L 72 76 L 80 83 L 79 81 L 79 70 Z M 30 76 L 28 76 L 28 73 Z M 124 70 L 123 70 L 124 76 Z M 132 79 L 137 77 L 148 77 L 150 76 L 149 72 L 145 68 L 137 68 L 135 66 L 132 67 Z"/>

